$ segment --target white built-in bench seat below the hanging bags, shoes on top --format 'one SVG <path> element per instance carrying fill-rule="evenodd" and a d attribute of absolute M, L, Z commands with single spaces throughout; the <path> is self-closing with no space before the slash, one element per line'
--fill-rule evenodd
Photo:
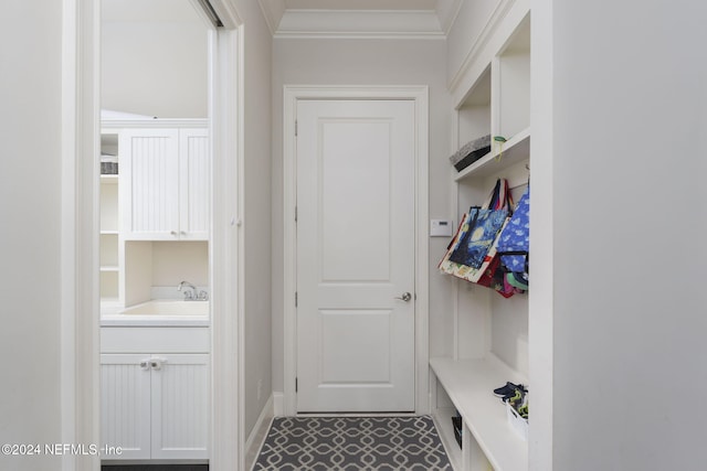
<path fill-rule="evenodd" d="M 528 445 L 508 424 L 503 402 L 493 394 L 508 381 L 528 384 L 527 378 L 492 354 L 483 360 L 434 357 L 430 360 L 430 367 L 494 470 L 527 470 Z M 450 410 L 450 417 L 452 415 Z M 449 432 L 443 432 L 443 439 L 447 449 L 456 447 L 453 436 L 450 442 Z"/>

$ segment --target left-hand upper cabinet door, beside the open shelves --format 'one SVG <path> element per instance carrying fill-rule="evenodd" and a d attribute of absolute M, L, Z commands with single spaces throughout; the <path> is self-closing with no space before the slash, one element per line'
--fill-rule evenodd
<path fill-rule="evenodd" d="M 179 238 L 179 132 L 120 131 L 122 232 L 133 240 Z"/>

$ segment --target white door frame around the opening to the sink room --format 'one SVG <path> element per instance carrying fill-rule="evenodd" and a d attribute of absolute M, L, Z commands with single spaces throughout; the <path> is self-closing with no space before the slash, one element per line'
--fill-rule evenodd
<path fill-rule="evenodd" d="M 209 96 L 213 144 L 210 469 L 220 471 L 244 467 L 243 277 L 239 263 L 243 259 L 239 221 L 244 55 L 242 22 L 233 1 L 211 0 L 211 4 L 224 23 L 211 35 Z M 61 435 L 64 443 L 88 446 L 101 439 L 95 158 L 101 135 L 101 7 L 96 0 L 63 0 L 62 7 Z M 62 458 L 62 471 L 97 471 L 99 464 L 97 456 L 67 453 Z"/>

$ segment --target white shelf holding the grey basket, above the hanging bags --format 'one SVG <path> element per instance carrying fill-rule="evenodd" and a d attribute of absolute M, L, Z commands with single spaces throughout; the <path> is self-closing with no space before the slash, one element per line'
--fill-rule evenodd
<path fill-rule="evenodd" d="M 504 169 L 527 160 L 529 156 L 530 128 L 526 128 L 504 142 L 503 146 L 493 142 L 489 153 L 462 170 L 454 180 L 460 182 L 471 178 L 497 174 Z"/>

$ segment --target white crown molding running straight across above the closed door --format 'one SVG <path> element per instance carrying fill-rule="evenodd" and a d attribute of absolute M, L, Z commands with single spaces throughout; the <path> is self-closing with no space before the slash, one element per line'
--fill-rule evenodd
<path fill-rule="evenodd" d="M 432 10 L 286 10 L 275 38 L 444 39 Z"/>

